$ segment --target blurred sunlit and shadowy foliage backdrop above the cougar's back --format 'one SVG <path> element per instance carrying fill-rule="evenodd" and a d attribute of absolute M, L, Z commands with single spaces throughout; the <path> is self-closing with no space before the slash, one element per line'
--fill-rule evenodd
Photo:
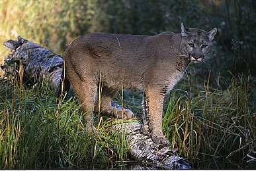
<path fill-rule="evenodd" d="M 0 5 L 1 44 L 21 35 L 62 54 L 73 39 L 88 32 L 153 35 L 180 32 L 183 22 L 191 28 L 218 28 L 212 60 L 202 64 L 214 74 L 226 77 L 227 70 L 237 74 L 248 69 L 256 74 L 255 1 L 2 0 Z M 6 51 L 1 48 L 2 59 Z M 196 68 L 206 72 L 202 65 Z"/>

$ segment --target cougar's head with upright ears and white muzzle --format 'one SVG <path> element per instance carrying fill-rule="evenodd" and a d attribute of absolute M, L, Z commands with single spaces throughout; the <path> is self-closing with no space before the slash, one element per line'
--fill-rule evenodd
<path fill-rule="evenodd" d="M 181 53 L 183 57 L 189 58 L 192 62 L 201 62 L 210 49 L 210 43 L 214 39 L 217 29 L 210 32 L 198 28 L 186 28 L 181 23 Z"/>

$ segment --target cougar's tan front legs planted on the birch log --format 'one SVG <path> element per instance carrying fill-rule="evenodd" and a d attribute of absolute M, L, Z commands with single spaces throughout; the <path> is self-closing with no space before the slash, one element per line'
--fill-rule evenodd
<path fill-rule="evenodd" d="M 144 116 L 141 132 L 151 135 L 154 143 L 169 145 L 169 141 L 162 132 L 163 98 L 164 96 L 155 90 L 144 92 Z"/>

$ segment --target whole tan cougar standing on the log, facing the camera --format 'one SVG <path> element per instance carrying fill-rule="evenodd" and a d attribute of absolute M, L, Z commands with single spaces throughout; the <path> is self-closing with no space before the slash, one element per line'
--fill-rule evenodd
<path fill-rule="evenodd" d="M 86 112 L 89 128 L 93 111 L 118 118 L 132 118 L 128 109 L 116 109 L 111 100 L 116 89 L 140 89 L 143 93 L 141 132 L 154 143 L 169 145 L 163 135 L 163 100 L 183 77 L 191 62 L 207 55 L 217 29 L 210 32 L 186 28 L 181 33 L 163 32 L 155 36 L 91 33 L 78 37 L 64 52 L 62 80 L 58 95 L 68 91 L 70 83 Z"/>

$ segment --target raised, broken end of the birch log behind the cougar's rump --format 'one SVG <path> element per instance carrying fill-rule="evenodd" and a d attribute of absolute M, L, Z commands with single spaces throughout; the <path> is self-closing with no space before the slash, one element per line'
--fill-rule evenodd
<path fill-rule="evenodd" d="M 60 55 L 21 36 L 18 36 L 18 40 L 10 39 L 3 45 L 15 50 L 11 51 L 5 57 L 5 63 L 1 64 L 5 76 L 11 79 L 19 78 L 22 74 L 23 78 L 17 80 L 22 80 L 30 86 L 46 80 L 50 88 L 57 92 L 64 63 Z"/>

